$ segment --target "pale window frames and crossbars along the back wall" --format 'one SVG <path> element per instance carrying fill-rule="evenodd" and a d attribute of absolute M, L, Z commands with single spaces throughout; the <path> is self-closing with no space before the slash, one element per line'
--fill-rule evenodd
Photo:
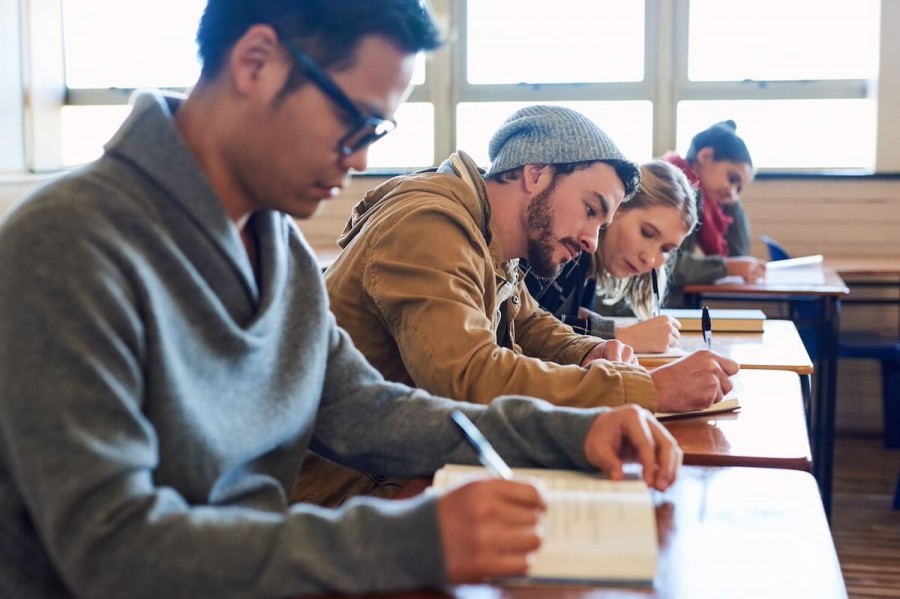
<path fill-rule="evenodd" d="M 436 162 L 456 149 L 456 105 L 480 101 L 596 101 L 649 100 L 653 105 L 652 149 L 660 155 L 675 147 L 676 115 L 682 100 L 737 99 L 836 99 L 875 98 L 878 102 L 875 173 L 900 172 L 900 36 L 891 31 L 900 26 L 900 3 L 881 2 L 881 42 L 879 79 L 871 81 L 752 81 L 704 82 L 687 77 L 689 2 L 644 0 L 644 79 L 640 82 L 578 84 L 496 84 L 468 83 L 466 68 L 466 14 L 469 0 L 432 0 L 431 8 L 439 26 L 451 42 L 426 58 L 426 79 L 416 86 L 409 100 L 434 106 Z M 0 109 L 11 109 L 10 124 L 21 131 L 0 145 L 0 170 L 24 168 L 32 172 L 58 170 L 62 166 L 60 114 L 64 105 L 127 103 L 130 89 L 67 90 L 62 47 L 63 0 L 0 0 L 3 22 L 21 23 L 21 39 L 0 36 L 0 49 L 12 49 L 20 56 L 22 72 L 21 107 L 13 105 L 9 94 L 0 95 Z M 21 6 L 16 15 L 16 6 Z M 671 24 L 671 26 L 666 26 Z M 4 33 L 9 27 L 3 30 Z M 14 82 L 14 72 L 4 72 L 0 83 Z M 17 87 L 14 85 L 14 87 Z M 4 89 L 8 89 L 4 86 Z M 13 94 L 15 95 L 15 94 Z M 0 114 L 3 112 L 0 111 Z M 16 120 L 21 121 L 18 127 Z M 15 146 L 21 150 L 15 151 Z M 18 158 L 16 155 L 18 154 Z M 372 169 L 398 172 L 403 169 Z M 821 169 L 776 169 L 777 172 L 821 173 Z"/>

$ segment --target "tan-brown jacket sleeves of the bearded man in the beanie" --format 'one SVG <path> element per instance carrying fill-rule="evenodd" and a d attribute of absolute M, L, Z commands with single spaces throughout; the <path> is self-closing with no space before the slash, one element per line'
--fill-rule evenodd
<path fill-rule="evenodd" d="M 485 261 L 486 248 L 473 248 L 480 236 L 464 220 L 423 197 L 399 221 L 367 234 L 372 258 L 364 288 L 417 386 L 477 403 L 523 394 L 558 405 L 630 402 L 654 408 L 656 392 L 646 370 L 606 361 L 579 366 L 602 340 L 574 335 L 539 309 L 524 284 L 515 319 L 524 355 L 500 347 L 485 304 L 485 277 L 494 276 L 493 265 Z"/>

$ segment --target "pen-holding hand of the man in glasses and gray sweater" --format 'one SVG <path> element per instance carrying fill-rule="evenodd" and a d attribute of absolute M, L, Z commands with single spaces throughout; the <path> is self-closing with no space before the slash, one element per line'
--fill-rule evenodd
<path fill-rule="evenodd" d="M 451 489 L 437 501 L 447 579 L 453 584 L 522 576 L 541 544 L 547 505 L 533 485 L 500 478 Z"/>

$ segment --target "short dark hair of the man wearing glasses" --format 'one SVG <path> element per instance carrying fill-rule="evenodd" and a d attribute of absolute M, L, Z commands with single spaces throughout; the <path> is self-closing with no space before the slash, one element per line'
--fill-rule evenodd
<path fill-rule="evenodd" d="M 410 54 L 441 44 L 420 0 L 208 0 L 197 30 L 201 77 L 215 77 L 235 42 L 256 24 L 290 37 L 322 68 L 349 66 L 367 35 L 387 37 Z M 291 89 L 305 82 L 298 69 L 291 79 Z"/>

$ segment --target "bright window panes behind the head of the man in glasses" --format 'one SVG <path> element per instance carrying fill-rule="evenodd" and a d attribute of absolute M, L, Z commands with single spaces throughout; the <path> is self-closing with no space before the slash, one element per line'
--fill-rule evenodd
<path fill-rule="evenodd" d="M 197 81 L 195 42 L 206 0 L 63 0 L 66 103 L 60 111 L 61 163 L 93 160 L 128 115 L 132 90 L 185 90 Z M 114 49 L 114 51 L 110 51 Z M 425 83 L 425 57 L 413 83 Z M 434 107 L 409 102 L 402 127 L 372 147 L 370 168 L 423 168 L 434 162 Z"/>

